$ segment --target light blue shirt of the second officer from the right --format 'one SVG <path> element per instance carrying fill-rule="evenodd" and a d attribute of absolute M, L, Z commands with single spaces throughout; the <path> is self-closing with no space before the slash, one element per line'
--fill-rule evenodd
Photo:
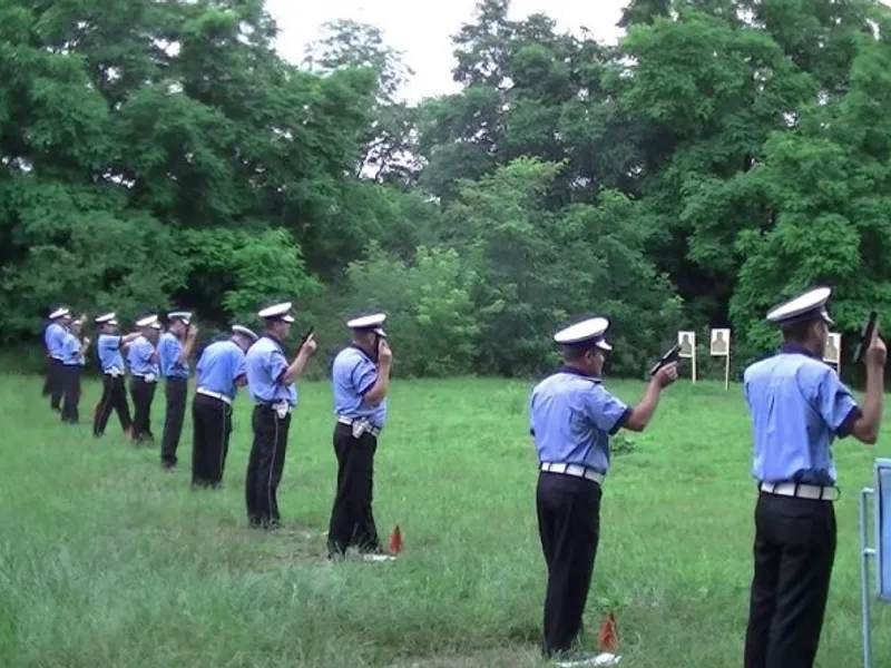
<path fill-rule="evenodd" d="M 613 396 L 603 381 L 564 367 L 546 377 L 529 397 L 529 433 L 538 461 L 609 470 L 609 436 L 631 410 Z"/>

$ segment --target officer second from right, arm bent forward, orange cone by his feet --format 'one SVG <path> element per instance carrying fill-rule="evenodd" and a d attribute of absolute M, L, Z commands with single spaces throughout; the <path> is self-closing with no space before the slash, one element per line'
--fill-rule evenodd
<path fill-rule="evenodd" d="M 581 630 L 600 534 L 601 485 L 609 468 L 609 438 L 643 431 L 659 393 L 677 379 L 677 365 L 653 376 L 640 402 L 627 406 L 604 386 L 611 346 L 609 322 L 595 317 L 558 332 L 564 366 L 532 390 L 530 433 L 539 459 L 538 530 L 548 567 L 544 654 L 571 658 Z"/>

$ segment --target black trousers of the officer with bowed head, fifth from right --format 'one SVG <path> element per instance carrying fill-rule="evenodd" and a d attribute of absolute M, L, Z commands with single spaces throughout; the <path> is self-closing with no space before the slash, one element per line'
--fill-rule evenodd
<path fill-rule="evenodd" d="M 195 394 L 192 430 L 192 484 L 218 487 L 229 450 L 232 406 L 219 399 Z"/>

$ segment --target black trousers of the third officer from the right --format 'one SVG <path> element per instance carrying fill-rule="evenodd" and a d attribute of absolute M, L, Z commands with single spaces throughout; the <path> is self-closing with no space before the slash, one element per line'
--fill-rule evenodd
<path fill-rule="evenodd" d="M 366 432 L 354 439 L 350 425 L 337 423 L 334 428 L 337 490 L 327 530 L 327 549 L 332 556 L 343 554 L 350 546 L 356 546 L 361 552 L 380 549 L 371 510 L 376 450 L 376 436 Z"/>

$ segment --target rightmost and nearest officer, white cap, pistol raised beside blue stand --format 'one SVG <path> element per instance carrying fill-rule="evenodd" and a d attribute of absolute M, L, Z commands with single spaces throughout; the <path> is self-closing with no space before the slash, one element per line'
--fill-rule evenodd
<path fill-rule="evenodd" d="M 776 306 L 767 321 L 783 332 L 776 355 L 748 366 L 757 481 L 754 577 L 745 668 L 814 665 L 835 558 L 834 439 L 874 443 L 882 421 L 885 345 L 866 350 L 866 395 L 860 409 L 822 362 L 831 288 L 807 291 Z"/>

